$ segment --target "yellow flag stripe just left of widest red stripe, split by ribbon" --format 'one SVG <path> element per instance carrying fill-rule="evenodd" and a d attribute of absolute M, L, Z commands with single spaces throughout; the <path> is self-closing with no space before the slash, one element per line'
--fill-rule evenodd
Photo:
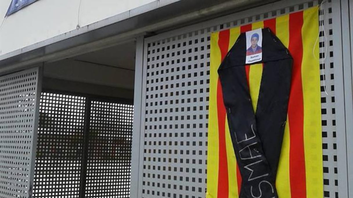
<path fill-rule="evenodd" d="M 289 45 L 289 15 L 276 18 L 276 36 L 288 48 Z M 288 117 L 287 117 L 288 120 Z M 283 135 L 281 156 L 277 170 L 276 187 L 279 197 L 291 198 L 291 182 L 289 180 L 289 122 L 286 122 Z"/>

